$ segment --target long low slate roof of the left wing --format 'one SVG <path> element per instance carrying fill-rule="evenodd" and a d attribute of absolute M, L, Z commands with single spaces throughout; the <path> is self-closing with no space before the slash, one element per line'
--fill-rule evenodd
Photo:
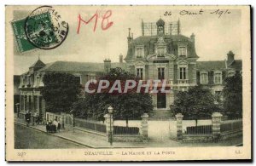
<path fill-rule="evenodd" d="M 125 63 L 111 63 L 111 67 L 124 68 Z M 75 61 L 55 61 L 53 63 L 46 64 L 42 71 L 51 72 L 104 72 L 104 63 L 91 63 L 91 62 L 75 62 Z"/>

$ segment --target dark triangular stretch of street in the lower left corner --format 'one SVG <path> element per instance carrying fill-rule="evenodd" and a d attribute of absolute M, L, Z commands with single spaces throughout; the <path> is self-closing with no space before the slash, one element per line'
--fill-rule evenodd
<path fill-rule="evenodd" d="M 15 149 L 88 148 L 68 140 L 15 124 Z"/>

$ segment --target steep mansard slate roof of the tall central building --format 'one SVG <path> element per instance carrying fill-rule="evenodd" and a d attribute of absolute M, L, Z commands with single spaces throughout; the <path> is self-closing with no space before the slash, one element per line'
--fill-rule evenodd
<path fill-rule="evenodd" d="M 128 47 L 128 51 L 127 51 L 125 60 L 131 60 L 131 59 L 134 58 L 133 54 L 132 54 L 132 49 L 136 45 L 148 46 L 149 43 L 152 43 L 152 42 L 156 43 L 157 40 L 158 40 L 157 35 L 154 35 L 154 36 L 140 36 L 140 37 L 135 38 L 134 40 L 131 41 L 131 43 L 129 43 L 129 47 Z M 167 35 L 167 36 L 164 37 L 164 40 L 165 40 L 167 45 L 170 45 L 170 43 L 172 43 L 171 44 L 172 48 L 177 48 L 177 43 L 178 42 L 187 42 L 188 43 L 189 57 L 198 58 L 198 55 L 195 53 L 194 44 L 191 42 L 189 37 L 185 37 L 183 35 Z M 147 47 L 146 47 L 146 49 L 147 49 Z"/>

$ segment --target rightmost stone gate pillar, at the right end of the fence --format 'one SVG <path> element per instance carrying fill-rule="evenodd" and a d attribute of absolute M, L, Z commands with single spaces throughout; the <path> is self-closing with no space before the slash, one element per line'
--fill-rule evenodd
<path fill-rule="evenodd" d="M 220 136 L 220 123 L 222 114 L 219 112 L 212 113 L 212 135 L 213 139 L 218 139 Z"/>

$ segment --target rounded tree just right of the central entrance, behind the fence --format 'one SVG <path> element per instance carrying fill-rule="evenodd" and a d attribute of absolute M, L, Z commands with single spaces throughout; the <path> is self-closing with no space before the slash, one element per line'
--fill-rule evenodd
<path fill-rule="evenodd" d="M 210 89 L 197 85 L 188 91 L 180 91 L 172 106 L 175 114 L 182 113 L 185 119 L 210 118 L 212 112 L 218 112 L 218 105 Z"/>

